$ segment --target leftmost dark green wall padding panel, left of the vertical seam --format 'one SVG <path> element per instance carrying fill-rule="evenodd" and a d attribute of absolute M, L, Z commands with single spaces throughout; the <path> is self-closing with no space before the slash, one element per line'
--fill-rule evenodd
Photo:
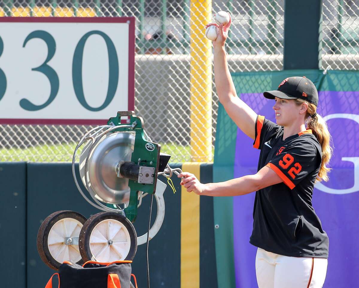
<path fill-rule="evenodd" d="M 0 163 L 0 287 L 26 287 L 26 163 Z"/>

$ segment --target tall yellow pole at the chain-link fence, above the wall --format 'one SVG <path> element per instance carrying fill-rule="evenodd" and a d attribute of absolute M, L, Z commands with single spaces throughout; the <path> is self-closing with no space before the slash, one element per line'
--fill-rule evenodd
<path fill-rule="evenodd" d="M 191 1 L 191 161 L 212 161 L 211 0 Z"/>

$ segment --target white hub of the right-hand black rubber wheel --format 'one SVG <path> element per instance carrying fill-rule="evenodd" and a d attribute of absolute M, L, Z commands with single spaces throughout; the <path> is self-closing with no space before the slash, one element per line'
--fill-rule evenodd
<path fill-rule="evenodd" d="M 130 233 L 120 221 L 106 219 L 99 222 L 91 231 L 89 245 L 93 260 L 124 260 L 130 252 Z"/>

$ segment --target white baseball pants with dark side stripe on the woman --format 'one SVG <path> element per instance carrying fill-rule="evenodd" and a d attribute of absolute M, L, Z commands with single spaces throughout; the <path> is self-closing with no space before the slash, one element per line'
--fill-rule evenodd
<path fill-rule="evenodd" d="M 321 288 L 327 273 L 325 258 L 289 257 L 258 248 L 259 288 Z"/>

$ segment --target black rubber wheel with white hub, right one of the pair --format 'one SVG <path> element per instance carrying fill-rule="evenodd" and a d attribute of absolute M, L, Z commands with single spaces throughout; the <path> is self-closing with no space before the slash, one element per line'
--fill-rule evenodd
<path fill-rule="evenodd" d="M 137 251 L 137 234 L 129 219 L 120 213 L 100 212 L 82 227 L 79 248 L 84 261 L 132 260 Z"/>

